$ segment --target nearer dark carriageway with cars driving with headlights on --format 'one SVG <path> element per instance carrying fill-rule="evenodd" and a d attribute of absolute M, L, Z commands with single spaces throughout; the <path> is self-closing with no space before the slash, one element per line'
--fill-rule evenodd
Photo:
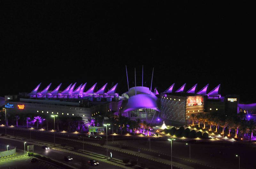
<path fill-rule="evenodd" d="M 5 143 L 8 143 L 9 145 L 16 146 L 18 149 L 21 149 L 21 150 L 24 149 L 24 144 L 19 141 L 7 140 L 7 139 L 3 139 L 0 137 L 0 142 L 2 144 L 5 142 Z M 29 145 L 29 144 L 26 144 L 26 145 Z M 76 168 L 82 168 L 82 167 L 86 167 L 88 169 L 95 168 L 95 167 L 87 164 L 87 161 L 90 160 L 89 158 L 81 157 L 79 155 L 74 155 L 74 154 L 70 155 L 65 152 L 54 150 L 54 149 L 45 150 L 45 149 L 42 149 L 41 146 L 36 146 L 36 145 L 34 146 L 34 152 L 44 155 L 45 157 L 52 158 L 52 159 L 58 160 L 60 162 L 72 165 Z M 64 156 L 72 157 L 73 161 L 69 161 L 69 162 L 65 161 Z M 100 162 L 99 166 L 100 166 L 100 168 L 104 168 L 104 169 L 112 169 L 112 168 L 119 169 L 120 168 L 120 167 L 117 167 L 114 165 L 109 165 L 104 162 Z"/>

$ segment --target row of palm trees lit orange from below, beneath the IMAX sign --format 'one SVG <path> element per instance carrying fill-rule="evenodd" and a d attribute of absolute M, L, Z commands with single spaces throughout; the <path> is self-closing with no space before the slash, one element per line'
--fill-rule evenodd
<path fill-rule="evenodd" d="M 192 126 L 195 125 L 197 121 L 198 127 L 203 124 L 203 129 L 206 129 L 206 124 L 208 124 L 209 130 L 212 131 L 212 127 L 215 127 L 215 132 L 218 132 L 219 127 L 222 128 L 221 134 L 224 135 L 225 129 L 228 128 L 228 136 L 232 130 L 235 131 L 235 138 L 238 135 L 244 138 L 249 135 L 250 141 L 253 132 L 256 130 L 256 123 L 254 120 L 247 120 L 244 112 L 239 112 L 238 114 L 228 113 L 198 113 L 191 114 L 190 119 L 192 120 Z"/>

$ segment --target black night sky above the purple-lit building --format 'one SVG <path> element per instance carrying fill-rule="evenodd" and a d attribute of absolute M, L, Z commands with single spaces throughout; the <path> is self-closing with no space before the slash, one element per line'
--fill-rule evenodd
<path fill-rule="evenodd" d="M 193 1 L 2 1 L 0 96 L 30 92 L 40 82 L 87 82 L 117 92 L 141 85 L 163 92 L 221 83 L 221 94 L 256 102 L 250 4 Z M 181 3 L 181 2 L 180 2 Z M 252 43 L 253 41 L 253 43 Z"/>

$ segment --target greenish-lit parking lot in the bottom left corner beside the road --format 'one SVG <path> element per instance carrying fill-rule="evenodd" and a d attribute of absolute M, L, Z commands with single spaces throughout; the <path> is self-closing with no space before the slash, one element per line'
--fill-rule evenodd
<path fill-rule="evenodd" d="M 1 169 L 59 169 L 60 167 L 57 167 L 55 165 L 52 165 L 48 162 L 45 162 L 43 160 L 37 159 L 36 162 L 31 163 L 31 157 L 29 156 L 23 156 L 19 158 L 13 158 L 5 161 L 0 162 L 0 168 Z"/>

